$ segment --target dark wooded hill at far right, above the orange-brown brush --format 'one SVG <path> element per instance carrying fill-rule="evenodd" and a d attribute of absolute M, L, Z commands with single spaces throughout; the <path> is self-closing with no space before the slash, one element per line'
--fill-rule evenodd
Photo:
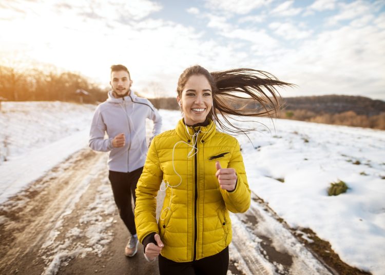
<path fill-rule="evenodd" d="M 373 116 L 385 112 L 385 102 L 364 96 L 320 95 L 284 97 L 286 110 L 308 110 L 314 113 L 342 113 L 354 111 L 356 114 Z"/>

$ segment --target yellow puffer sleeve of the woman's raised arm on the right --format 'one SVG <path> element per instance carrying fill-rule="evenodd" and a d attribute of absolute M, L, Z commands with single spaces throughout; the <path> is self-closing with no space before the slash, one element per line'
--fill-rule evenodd
<path fill-rule="evenodd" d="M 247 184 L 245 166 L 238 141 L 227 168 L 234 168 L 237 173 L 237 185 L 234 191 L 228 192 L 221 189 L 226 208 L 233 213 L 246 212 L 250 207 L 251 191 Z"/>

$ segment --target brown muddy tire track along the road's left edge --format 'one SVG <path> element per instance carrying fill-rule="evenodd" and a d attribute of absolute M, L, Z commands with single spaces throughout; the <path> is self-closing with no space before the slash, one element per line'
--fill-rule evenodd
<path fill-rule="evenodd" d="M 53 229 L 75 209 L 90 182 L 98 181 L 95 170 L 105 162 L 103 154 L 80 150 L 1 205 L 0 273 L 42 273 L 46 263 L 41 247 L 54 237 Z"/>

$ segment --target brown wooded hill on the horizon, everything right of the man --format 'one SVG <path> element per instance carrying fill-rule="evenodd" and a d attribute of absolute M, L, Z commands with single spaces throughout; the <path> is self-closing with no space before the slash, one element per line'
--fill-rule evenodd
<path fill-rule="evenodd" d="M 158 109 L 178 110 L 175 97 L 149 100 Z M 372 100 L 364 96 L 333 94 L 284 97 L 280 103 L 283 108 L 277 116 L 281 119 L 385 130 L 385 102 L 381 100 Z M 239 100 L 234 107 L 240 108 L 242 105 L 246 105 L 246 109 L 254 109 L 259 106 L 244 99 Z M 263 111 L 262 108 L 261 111 Z"/>

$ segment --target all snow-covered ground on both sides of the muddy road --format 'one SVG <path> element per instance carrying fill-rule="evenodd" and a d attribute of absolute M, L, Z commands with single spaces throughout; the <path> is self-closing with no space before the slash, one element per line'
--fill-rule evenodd
<path fill-rule="evenodd" d="M 0 203 L 87 146 L 95 108 L 59 102 L 2 104 Z M 163 130 L 177 111 L 160 111 Z M 237 136 L 251 189 L 291 227 L 310 227 L 349 265 L 385 274 L 385 131 L 259 119 Z M 256 125 L 254 125 L 256 126 Z M 5 161 L 6 160 L 6 161 Z M 342 180 L 347 193 L 328 197 Z"/>

